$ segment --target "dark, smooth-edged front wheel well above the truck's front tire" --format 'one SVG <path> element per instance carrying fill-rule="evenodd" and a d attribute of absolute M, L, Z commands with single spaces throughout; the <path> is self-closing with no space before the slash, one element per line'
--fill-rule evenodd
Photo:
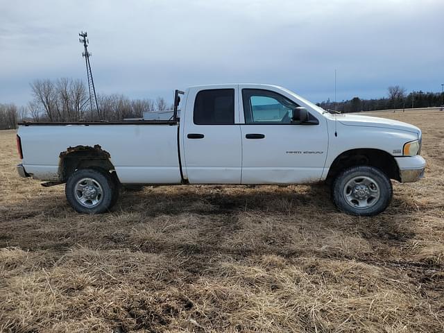
<path fill-rule="evenodd" d="M 328 171 L 327 182 L 334 180 L 343 169 L 359 165 L 376 167 L 384 172 L 388 178 L 401 181 L 400 170 L 395 157 L 379 149 L 361 148 L 345 151 L 336 157 Z"/>

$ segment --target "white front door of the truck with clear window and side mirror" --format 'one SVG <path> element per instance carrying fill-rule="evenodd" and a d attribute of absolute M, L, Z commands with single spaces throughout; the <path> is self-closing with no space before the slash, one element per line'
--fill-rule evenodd
<path fill-rule="evenodd" d="M 242 184 L 320 180 L 328 145 L 325 119 L 317 115 L 317 125 L 292 123 L 291 112 L 300 105 L 271 90 L 241 88 Z"/>

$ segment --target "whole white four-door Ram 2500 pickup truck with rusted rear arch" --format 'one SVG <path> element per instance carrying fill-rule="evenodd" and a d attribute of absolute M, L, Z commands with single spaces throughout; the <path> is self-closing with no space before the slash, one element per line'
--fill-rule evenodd
<path fill-rule="evenodd" d="M 391 179 L 415 182 L 425 169 L 416 126 L 331 114 L 275 85 L 176 90 L 167 120 L 19 125 L 19 174 L 66 183 L 86 213 L 110 210 L 121 185 L 327 181 L 339 210 L 371 216 L 390 203 Z"/>

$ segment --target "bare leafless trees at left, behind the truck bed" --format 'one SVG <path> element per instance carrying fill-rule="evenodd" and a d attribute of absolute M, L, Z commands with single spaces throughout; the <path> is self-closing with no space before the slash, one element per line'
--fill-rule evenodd
<path fill-rule="evenodd" d="M 17 128 L 26 121 L 90 121 L 123 120 L 142 117 L 143 112 L 173 108 L 163 97 L 157 99 L 129 99 L 123 94 L 99 94 L 96 103 L 89 103 L 85 83 L 72 78 L 34 80 L 32 100 L 17 108 L 14 104 L 0 104 L 0 129 Z"/>

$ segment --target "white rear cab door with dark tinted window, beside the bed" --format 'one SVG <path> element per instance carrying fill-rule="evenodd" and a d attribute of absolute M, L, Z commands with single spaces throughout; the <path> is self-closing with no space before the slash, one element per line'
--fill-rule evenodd
<path fill-rule="evenodd" d="M 182 142 L 191 184 L 240 184 L 242 139 L 236 86 L 190 89 Z"/>

